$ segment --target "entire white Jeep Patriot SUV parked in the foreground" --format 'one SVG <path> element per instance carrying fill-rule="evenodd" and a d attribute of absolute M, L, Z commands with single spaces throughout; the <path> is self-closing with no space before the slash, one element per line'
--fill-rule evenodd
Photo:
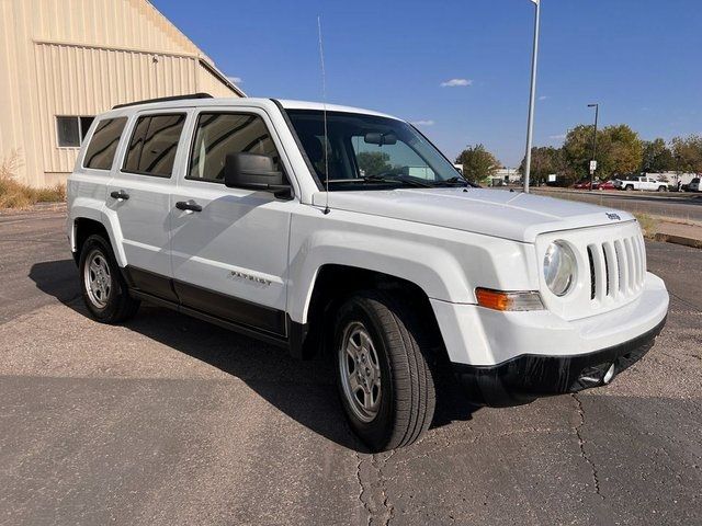
<path fill-rule="evenodd" d="M 488 405 L 576 392 L 643 356 L 668 310 L 631 215 L 473 187 L 411 125 L 365 110 L 116 106 L 88 132 L 68 203 L 94 319 L 152 301 L 327 353 L 374 450 L 429 427 L 442 364 Z"/>

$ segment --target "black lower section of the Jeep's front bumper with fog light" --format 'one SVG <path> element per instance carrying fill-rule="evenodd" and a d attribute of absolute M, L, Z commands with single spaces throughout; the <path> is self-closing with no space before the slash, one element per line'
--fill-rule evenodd
<path fill-rule="evenodd" d="M 666 318 L 633 340 L 587 354 L 525 354 L 491 366 L 452 366 L 471 400 L 492 407 L 518 405 L 609 384 L 650 350 L 665 324 Z"/>

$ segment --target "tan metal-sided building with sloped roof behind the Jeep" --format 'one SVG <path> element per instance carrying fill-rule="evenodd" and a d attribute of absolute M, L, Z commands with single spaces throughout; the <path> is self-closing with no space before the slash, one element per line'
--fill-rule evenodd
<path fill-rule="evenodd" d="M 20 182 L 64 182 L 113 105 L 199 91 L 245 96 L 146 0 L 0 0 L 0 162 Z"/>

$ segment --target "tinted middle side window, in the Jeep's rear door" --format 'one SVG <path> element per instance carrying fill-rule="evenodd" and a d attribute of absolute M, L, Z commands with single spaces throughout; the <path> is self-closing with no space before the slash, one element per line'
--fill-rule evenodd
<path fill-rule="evenodd" d="M 184 123 L 184 113 L 139 117 L 129 140 L 123 170 L 170 178 Z"/>

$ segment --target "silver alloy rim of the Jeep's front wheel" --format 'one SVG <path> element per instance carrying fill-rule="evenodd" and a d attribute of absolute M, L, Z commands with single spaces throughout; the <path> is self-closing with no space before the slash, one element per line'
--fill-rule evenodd
<path fill-rule="evenodd" d="M 352 322 L 344 329 L 339 369 L 343 395 L 353 414 L 362 422 L 372 422 L 381 408 L 381 363 L 362 323 Z"/>

